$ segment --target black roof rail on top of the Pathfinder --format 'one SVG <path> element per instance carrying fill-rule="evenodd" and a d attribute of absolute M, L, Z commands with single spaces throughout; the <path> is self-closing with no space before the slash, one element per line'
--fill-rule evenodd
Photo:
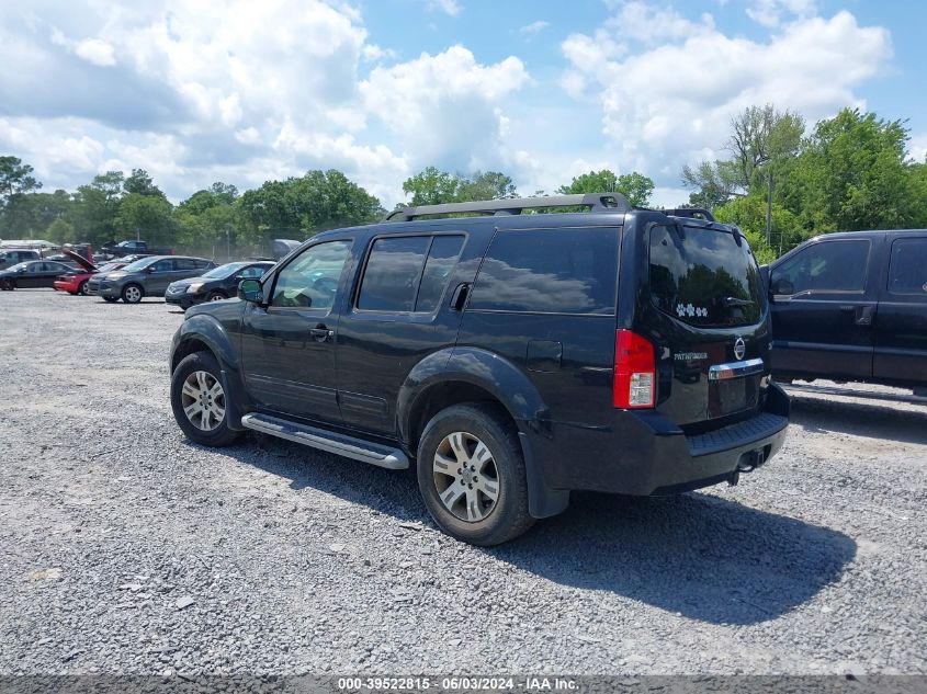
<path fill-rule="evenodd" d="M 410 221 L 416 217 L 430 215 L 453 215 L 483 213 L 486 215 L 520 215 L 524 209 L 545 207 L 589 207 L 590 212 L 629 212 L 631 203 L 621 193 L 585 193 L 579 195 L 547 195 L 545 197 L 511 197 L 508 200 L 481 200 L 470 203 L 446 203 L 444 205 L 419 205 L 398 207 L 383 218 L 383 221 Z"/>

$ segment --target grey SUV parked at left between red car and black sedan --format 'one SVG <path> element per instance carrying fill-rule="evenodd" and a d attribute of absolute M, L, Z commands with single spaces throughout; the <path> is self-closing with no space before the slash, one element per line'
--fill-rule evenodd
<path fill-rule="evenodd" d="M 154 255 L 129 263 L 122 270 L 106 273 L 93 283 L 93 292 L 106 302 L 137 304 L 146 296 L 163 296 L 168 285 L 178 280 L 196 277 L 216 264 L 205 258 Z M 88 284 L 88 288 L 90 284 Z"/>

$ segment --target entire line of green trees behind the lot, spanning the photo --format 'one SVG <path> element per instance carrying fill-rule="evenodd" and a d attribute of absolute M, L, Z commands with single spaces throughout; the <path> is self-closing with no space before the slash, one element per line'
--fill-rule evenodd
<path fill-rule="evenodd" d="M 907 156 L 903 121 L 846 109 L 807 132 L 804 118 L 773 105 L 731 122 L 723 159 L 682 170 L 689 206 L 737 224 L 768 261 L 812 236 L 855 229 L 927 227 L 927 163 Z M 273 238 L 375 221 L 381 202 L 337 170 L 267 181 L 245 191 L 223 182 L 174 205 L 142 169 L 108 171 L 76 191 L 42 191 L 33 168 L 0 157 L 0 239 L 56 243 L 140 238 L 211 258 L 267 254 Z M 500 171 L 451 173 L 428 167 L 403 183 L 411 205 L 517 197 Z M 555 193 L 620 192 L 651 204 L 654 182 L 636 171 L 575 177 Z M 535 191 L 533 195 L 545 195 Z M 234 249 L 234 250 L 233 250 Z"/>

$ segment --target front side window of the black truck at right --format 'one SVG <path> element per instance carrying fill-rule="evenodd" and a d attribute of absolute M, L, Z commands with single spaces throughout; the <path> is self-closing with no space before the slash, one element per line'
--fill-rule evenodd
<path fill-rule="evenodd" d="M 779 296 L 805 292 L 862 294 L 868 265 L 866 239 L 813 243 L 773 270 L 770 288 Z"/>

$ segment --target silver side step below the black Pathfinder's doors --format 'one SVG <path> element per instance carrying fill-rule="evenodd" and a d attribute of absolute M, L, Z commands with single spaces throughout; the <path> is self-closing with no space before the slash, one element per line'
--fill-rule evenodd
<path fill-rule="evenodd" d="M 319 451 L 327 451 L 348 458 L 386 467 L 391 470 L 405 470 L 409 467 L 409 458 L 398 448 L 371 443 L 363 439 L 354 439 L 346 434 L 337 434 L 324 429 L 316 429 L 306 424 L 298 424 L 269 414 L 252 412 L 241 418 L 241 425 L 259 431 L 262 434 L 279 436 L 287 441 L 295 441 Z"/>

